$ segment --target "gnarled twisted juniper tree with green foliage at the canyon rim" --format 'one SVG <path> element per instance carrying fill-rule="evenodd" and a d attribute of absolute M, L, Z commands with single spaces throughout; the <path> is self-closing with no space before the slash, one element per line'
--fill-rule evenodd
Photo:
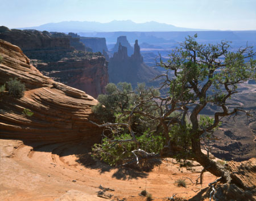
<path fill-rule="evenodd" d="M 179 149 L 181 157 L 195 159 L 210 173 L 230 182 L 225 166 L 201 152 L 200 140 L 217 129 L 223 117 L 240 111 L 247 114 L 241 108 L 229 109 L 228 99 L 237 93 L 240 83 L 255 78 L 255 52 L 250 46 L 232 52 L 228 41 L 202 45 L 196 37 L 186 38 L 167 63 L 160 59 L 159 65 L 172 72 L 172 76 L 158 76 L 164 78 L 160 88 L 168 88 L 167 96 L 143 85 L 134 93 L 114 90 L 106 95 L 113 98 L 118 94 L 122 103 L 112 105 L 115 122 L 101 125 L 111 134 L 94 146 L 96 156 L 110 164 L 127 164 L 168 156 Z M 213 118 L 200 115 L 209 104 L 219 109 Z"/>

